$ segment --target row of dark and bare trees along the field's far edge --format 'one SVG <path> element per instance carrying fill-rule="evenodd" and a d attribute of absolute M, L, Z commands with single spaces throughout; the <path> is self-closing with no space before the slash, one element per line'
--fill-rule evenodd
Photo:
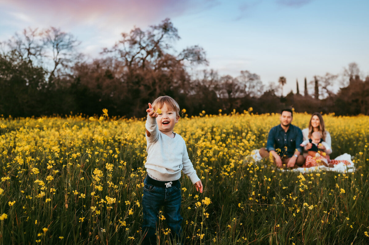
<path fill-rule="evenodd" d="M 305 79 L 304 93 L 292 91 L 282 96 L 286 79 L 279 84 L 262 84 L 259 75 L 241 71 L 238 77 L 220 76 L 204 70 L 190 74 L 197 65 L 207 64 L 199 46 L 181 52 L 173 49 L 180 37 L 169 19 L 147 30 L 134 28 L 101 52 L 93 61 L 77 52 L 79 41 L 71 33 L 51 27 L 25 29 L 1 43 L 0 114 L 5 117 L 101 114 L 142 117 L 148 102 L 169 95 L 187 114 L 201 111 L 217 114 L 247 110 L 254 113 L 322 111 L 335 114 L 369 114 L 369 77 L 362 79 L 356 63 L 341 74 L 342 88 L 332 92 L 338 75 L 327 73 Z M 314 87 L 309 95 L 308 87 Z M 322 99 L 323 98 L 323 99 Z"/>

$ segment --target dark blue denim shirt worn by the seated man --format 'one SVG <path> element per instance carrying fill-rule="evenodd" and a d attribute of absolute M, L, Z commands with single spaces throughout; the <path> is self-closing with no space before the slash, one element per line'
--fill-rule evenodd
<path fill-rule="evenodd" d="M 274 150 L 281 158 L 284 155 L 292 157 L 296 149 L 302 154 L 303 149 L 300 146 L 302 139 L 303 136 L 299 127 L 290 124 L 287 132 L 284 132 L 284 129 L 279 124 L 270 129 L 266 149 L 268 151 Z"/>

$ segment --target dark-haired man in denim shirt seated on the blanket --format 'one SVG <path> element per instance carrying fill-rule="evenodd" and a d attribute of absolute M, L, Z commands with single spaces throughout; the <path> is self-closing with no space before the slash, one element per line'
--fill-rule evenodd
<path fill-rule="evenodd" d="M 268 157 L 271 153 L 274 157 L 276 166 L 292 168 L 295 165 L 302 166 L 305 158 L 302 156 L 303 148 L 302 132 L 299 127 L 291 124 L 292 110 L 284 109 L 279 117 L 280 125 L 270 129 L 266 148 L 261 148 L 261 157 Z M 284 166 L 283 166 L 284 165 Z"/>

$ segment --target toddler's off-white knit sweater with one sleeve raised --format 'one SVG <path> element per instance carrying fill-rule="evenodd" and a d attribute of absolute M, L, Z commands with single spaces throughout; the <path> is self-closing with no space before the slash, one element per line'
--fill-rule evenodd
<path fill-rule="evenodd" d="M 186 174 L 193 184 L 199 181 L 196 170 L 188 157 L 186 143 L 179 134 L 174 138 L 162 133 L 156 124 L 156 118 L 147 116 L 146 134 L 148 153 L 145 168 L 148 175 L 160 181 L 173 181 L 181 177 L 181 171 Z"/>

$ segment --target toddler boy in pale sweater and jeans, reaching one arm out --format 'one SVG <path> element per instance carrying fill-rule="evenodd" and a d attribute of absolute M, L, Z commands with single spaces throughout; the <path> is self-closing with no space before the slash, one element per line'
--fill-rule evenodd
<path fill-rule="evenodd" d="M 152 105 L 149 103 L 146 111 L 148 155 L 142 196 L 142 231 L 145 235 L 143 244 L 156 244 L 155 230 L 161 206 L 164 206 L 165 220 L 173 237 L 180 239 L 181 171 L 190 178 L 197 191 L 202 193 L 203 185 L 189 159 L 186 143 L 179 134 L 173 132 L 180 118 L 177 102 L 172 97 L 161 96 Z"/>

